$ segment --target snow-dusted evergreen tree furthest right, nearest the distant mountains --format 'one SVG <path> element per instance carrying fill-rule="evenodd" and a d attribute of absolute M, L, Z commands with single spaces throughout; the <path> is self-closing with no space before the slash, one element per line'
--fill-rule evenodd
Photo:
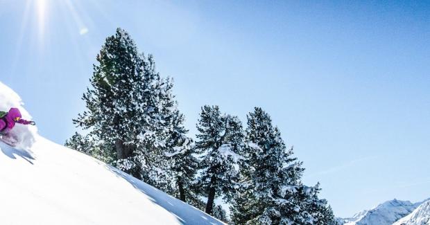
<path fill-rule="evenodd" d="M 248 115 L 244 191 L 233 201 L 235 224 L 315 224 L 325 200 L 317 197 L 318 186 L 300 181 L 302 163 L 287 150 L 277 127 L 261 108 Z M 248 199 L 248 202 L 245 202 Z M 318 206 L 318 207 L 317 207 Z M 325 207 L 322 207 L 325 208 Z M 328 219 L 327 221 L 329 221 Z"/>

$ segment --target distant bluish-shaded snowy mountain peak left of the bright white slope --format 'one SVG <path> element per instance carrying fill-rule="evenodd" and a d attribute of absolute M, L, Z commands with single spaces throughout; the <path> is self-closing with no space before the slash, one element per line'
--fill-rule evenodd
<path fill-rule="evenodd" d="M 393 224 L 398 219 L 408 215 L 418 204 L 411 201 L 393 199 L 379 204 L 371 210 L 364 210 L 352 218 L 345 219 L 345 225 L 385 225 Z"/>

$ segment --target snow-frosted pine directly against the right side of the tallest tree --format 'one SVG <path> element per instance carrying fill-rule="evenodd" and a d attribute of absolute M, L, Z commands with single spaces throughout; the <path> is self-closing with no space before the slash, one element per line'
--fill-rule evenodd
<path fill-rule="evenodd" d="M 184 128 L 184 115 L 178 110 L 173 95 L 173 80 L 160 79 L 157 83 L 156 107 L 151 111 L 150 132 L 139 136 L 139 145 L 145 147 L 139 153 L 144 181 L 187 201 L 189 186 L 196 174 L 197 159 L 193 156 L 192 139 Z"/>

